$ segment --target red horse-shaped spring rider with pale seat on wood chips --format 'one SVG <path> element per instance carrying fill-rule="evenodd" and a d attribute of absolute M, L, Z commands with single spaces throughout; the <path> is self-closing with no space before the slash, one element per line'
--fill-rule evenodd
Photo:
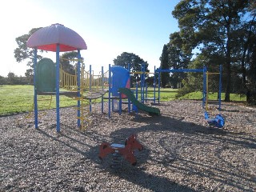
<path fill-rule="evenodd" d="M 102 160 L 108 154 L 112 154 L 113 162 L 111 167 L 114 169 L 118 169 L 122 166 L 121 156 L 123 156 L 126 161 L 130 162 L 131 165 L 135 166 L 137 160 L 134 155 L 134 150 L 143 150 L 143 146 L 138 142 L 136 134 L 131 134 L 130 137 L 126 139 L 125 144 L 102 142 L 99 146 L 98 158 Z"/>

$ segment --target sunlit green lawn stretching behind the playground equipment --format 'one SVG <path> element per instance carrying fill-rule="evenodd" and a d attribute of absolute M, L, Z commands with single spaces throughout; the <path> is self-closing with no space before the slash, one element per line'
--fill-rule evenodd
<path fill-rule="evenodd" d="M 161 89 L 160 91 L 160 101 L 171 101 L 175 99 L 178 90 Z M 158 98 L 158 93 L 156 93 L 156 97 Z M 153 88 L 148 89 L 147 98 L 154 98 Z M 224 98 L 224 94 L 222 94 L 222 98 Z M 49 99 L 49 95 L 38 95 L 38 110 L 48 109 L 50 104 Z M 202 99 L 202 92 L 186 94 L 179 99 Z M 217 93 L 209 94 L 209 99 L 217 100 Z M 246 98 L 240 98 L 238 94 L 230 94 L 230 100 L 244 102 Z M 34 86 L 0 86 L 0 115 L 31 111 L 33 110 L 33 101 Z M 55 108 L 55 102 L 55 96 L 53 96 L 50 109 Z M 60 96 L 60 107 L 76 105 L 77 101 L 74 99 Z"/>

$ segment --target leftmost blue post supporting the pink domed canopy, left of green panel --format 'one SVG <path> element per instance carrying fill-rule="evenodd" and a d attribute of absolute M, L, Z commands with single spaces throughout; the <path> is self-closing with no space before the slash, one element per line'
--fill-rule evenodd
<path fill-rule="evenodd" d="M 37 90 L 37 62 L 38 48 L 34 48 L 34 127 L 38 129 L 38 90 Z"/>

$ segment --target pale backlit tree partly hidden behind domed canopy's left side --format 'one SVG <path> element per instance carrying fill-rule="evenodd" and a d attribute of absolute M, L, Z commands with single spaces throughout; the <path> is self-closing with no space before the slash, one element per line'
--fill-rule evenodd
<path fill-rule="evenodd" d="M 39 28 L 33 28 L 32 30 L 29 31 L 28 34 L 23 34 L 22 36 L 19 36 L 18 38 L 15 38 L 15 41 L 18 44 L 18 47 L 14 50 L 14 58 L 16 58 L 17 62 L 23 62 L 26 59 L 27 61 L 27 66 L 30 66 L 30 68 L 33 67 L 33 58 L 34 58 L 34 52 L 33 49 L 29 48 L 26 46 L 27 40 L 30 38 L 32 34 L 34 34 L 35 31 L 41 29 L 42 27 Z M 42 53 L 43 50 L 40 50 L 40 53 Z M 37 55 L 38 59 L 41 59 L 42 56 L 40 54 Z"/>

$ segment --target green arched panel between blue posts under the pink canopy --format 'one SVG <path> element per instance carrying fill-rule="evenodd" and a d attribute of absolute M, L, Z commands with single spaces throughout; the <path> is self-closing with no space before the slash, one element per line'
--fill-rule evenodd
<path fill-rule="evenodd" d="M 38 92 L 55 92 L 56 67 L 50 58 L 42 58 L 36 67 L 36 88 Z"/>

